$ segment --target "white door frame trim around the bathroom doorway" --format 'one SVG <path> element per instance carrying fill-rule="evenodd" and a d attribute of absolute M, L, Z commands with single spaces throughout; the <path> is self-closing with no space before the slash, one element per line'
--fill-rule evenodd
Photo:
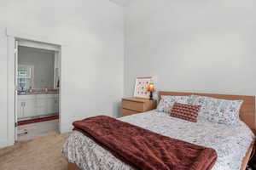
<path fill-rule="evenodd" d="M 38 33 L 38 35 L 40 35 Z M 44 44 L 43 48 L 48 47 L 59 47 L 59 62 L 60 62 L 60 88 L 59 88 L 59 129 L 61 133 L 61 49 L 67 45 L 63 42 L 56 42 L 55 40 L 50 40 L 50 38 L 45 38 L 36 35 L 30 35 L 25 32 L 15 31 L 12 29 L 6 29 L 7 36 L 7 57 L 8 57 L 8 144 L 15 144 L 15 99 L 17 99 L 16 87 L 15 87 L 15 40 L 23 40 L 24 42 L 32 42 L 27 44 Z M 33 43 L 34 42 L 34 43 Z"/>

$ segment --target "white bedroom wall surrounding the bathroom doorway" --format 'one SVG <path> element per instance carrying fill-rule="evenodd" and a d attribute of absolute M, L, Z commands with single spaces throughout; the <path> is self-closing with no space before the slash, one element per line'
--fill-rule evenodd
<path fill-rule="evenodd" d="M 67 42 L 61 51 L 61 132 L 88 116 L 118 116 L 123 95 L 123 8 L 108 0 L 4 0 L 0 27 Z M 0 147 L 7 144 L 7 52 L 0 31 Z"/>

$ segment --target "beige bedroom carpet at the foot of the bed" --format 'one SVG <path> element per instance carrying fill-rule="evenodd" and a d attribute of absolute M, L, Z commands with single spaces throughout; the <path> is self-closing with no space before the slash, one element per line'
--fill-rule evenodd
<path fill-rule="evenodd" d="M 67 170 L 61 148 L 68 133 L 53 133 L 0 150 L 0 170 Z"/>

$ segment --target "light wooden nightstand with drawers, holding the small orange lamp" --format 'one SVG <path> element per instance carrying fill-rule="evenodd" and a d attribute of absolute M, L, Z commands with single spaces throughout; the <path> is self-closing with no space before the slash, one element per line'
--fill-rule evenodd
<path fill-rule="evenodd" d="M 124 98 L 122 99 L 122 108 L 122 116 L 133 115 L 144 111 L 151 111 L 156 108 L 156 100 Z"/>

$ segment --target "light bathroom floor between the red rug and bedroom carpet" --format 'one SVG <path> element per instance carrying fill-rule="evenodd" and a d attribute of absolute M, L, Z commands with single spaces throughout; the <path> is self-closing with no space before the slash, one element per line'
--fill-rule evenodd
<path fill-rule="evenodd" d="M 49 133 L 59 133 L 59 120 L 21 125 L 18 127 L 17 141 L 34 139 L 38 136 L 46 136 Z"/>

